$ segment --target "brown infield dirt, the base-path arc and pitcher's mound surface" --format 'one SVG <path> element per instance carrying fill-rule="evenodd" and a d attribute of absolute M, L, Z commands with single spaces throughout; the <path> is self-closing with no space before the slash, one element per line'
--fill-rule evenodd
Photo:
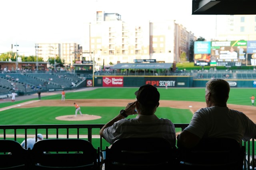
<path fill-rule="evenodd" d="M 41 107 L 41 106 L 72 106 L 74 107 L 74 102 L 79 106 L 103 106 L 103 107 L 126 107 L 126 105 L 130 102 L 134 102 L 134 100 L 126 100 L 126 99 L 80 99 L 80 100 L 39 100 L 35 103 L 30 103 L 26 105 L 19 106 L 18 108 L 28 108 L 28 107 Z M 206 107 L 205 102 L 188 102 L 188 101 L 172 101 L 172 100 L 160 100 L 159 107 L 172 107 L 177 109 L 190 109 L 192 113 L 194 113 L 197 109 Z M 234 105 L 228 104 L 230 109 L 235 109 L 238 111 L 242 111 L 246 114 L 254 123 L 256 123 L 256 114 L 254 106 L 242 106 L 242 105 Z M 17 108 L 17 107 L 16 107 Z M 88 120 L 91 115 L 83 115 L 80 116 L 79 113 L 76 119 L 73 119 L 74 115 L 68 115 L 68 120 Z M 95 119 L 95 116 L 92 115 L 92 119 Z M 65 117 L 62 120 L 67 120 Z"/>

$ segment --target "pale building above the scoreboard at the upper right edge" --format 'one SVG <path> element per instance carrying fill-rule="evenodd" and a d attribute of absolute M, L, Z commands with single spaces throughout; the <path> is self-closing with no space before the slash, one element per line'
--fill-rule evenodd
<path fill-rule="evenodd" d="M 217 18 L 216 31 L 219 41 L 256 40 L 256 15 L 222 16 Z"/>

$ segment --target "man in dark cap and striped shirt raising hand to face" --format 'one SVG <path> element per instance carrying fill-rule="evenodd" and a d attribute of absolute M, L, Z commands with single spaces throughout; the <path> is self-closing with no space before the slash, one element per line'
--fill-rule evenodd
<path fill-rule="evenodd" d="M 131 137 L 160 137 L 168 140 L 174 147 L 176 143 L 175 127 L 169 119 L 158 118 L 154 113 L 159 106 L 160 94 L 156 87 L 146 84 L 135 92 L 136 101 L 128 103 L 125 109 L 109 121 L 100 136 L 113 144 L 117 139 Z M 136 118 L 126 119 L 138 114 Z"/>

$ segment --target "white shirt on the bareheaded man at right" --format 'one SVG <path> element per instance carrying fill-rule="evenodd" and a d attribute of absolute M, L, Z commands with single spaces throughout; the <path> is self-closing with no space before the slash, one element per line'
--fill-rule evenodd
<path fill-rule="evenodd" d="M 231 138 L 242 145 L 256 136 L 256 125 L 242 112 L 228 107 L 198 109 L 184 130 L 200 138 Z"/>

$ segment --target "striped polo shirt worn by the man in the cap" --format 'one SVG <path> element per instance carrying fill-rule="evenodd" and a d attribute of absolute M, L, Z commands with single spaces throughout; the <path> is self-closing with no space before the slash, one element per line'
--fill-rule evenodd
<path fill-rule="evenodd" d="M 117 139 L 130 137 L 160 137 L 168 140 L 172 146 L 176 144 L 175 127 L 169 119 L 156 115 L 137 115 L 134 119 L 121 119 L 103 131 L 108 143 Z"/>

